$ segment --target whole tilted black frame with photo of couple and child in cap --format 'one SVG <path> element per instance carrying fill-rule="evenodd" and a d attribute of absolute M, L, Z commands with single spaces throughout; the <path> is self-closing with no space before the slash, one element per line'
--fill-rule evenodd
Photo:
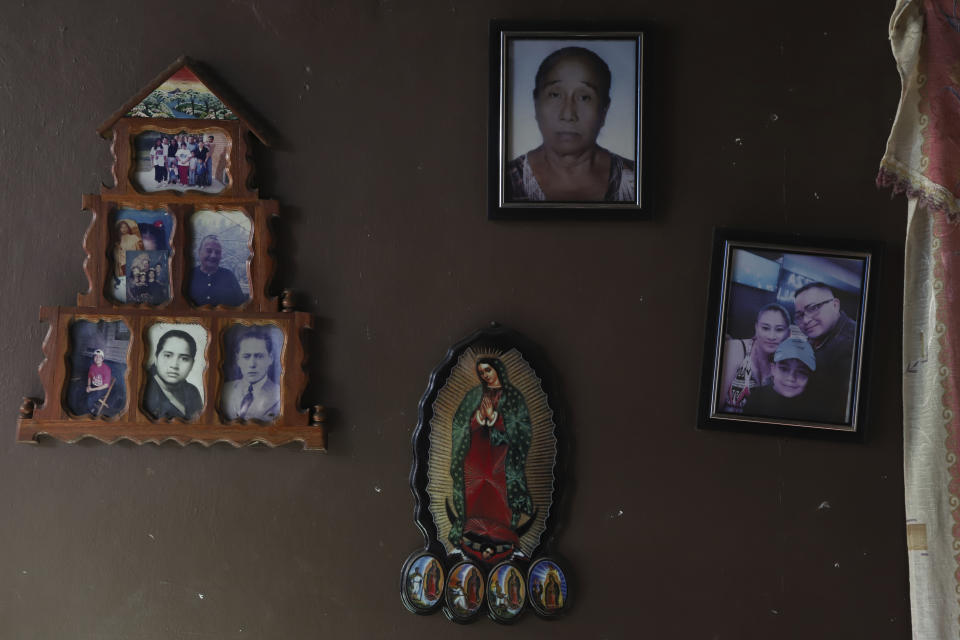
<path fill-rule="evenodd" d="M 861 241 L 718 230 L 700 426 L 860 437 L 878 260 Z"/>

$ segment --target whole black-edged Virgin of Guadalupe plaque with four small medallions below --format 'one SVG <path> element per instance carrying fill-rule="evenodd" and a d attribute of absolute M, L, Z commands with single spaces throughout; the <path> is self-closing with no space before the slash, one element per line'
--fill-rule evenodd
<path fill-rule="evenodd" d="M 503 623 L 524 611 L 519 594 L 530 589 L 515 583 L 547 557 L 557 488 L 560 414 L 546 371 L 535 346 L 497 325 L 453 346 L 433 371 L 413 438 L 425 549 L 403 567 L 409 610 L 442 608 L 455 622 L 486 611 Z M 442 568 L 431 581 L 444 585 L 442 598 L 423 588 L 427 563 Z M 549 617 L 565 606 L 533 609 Z"/>

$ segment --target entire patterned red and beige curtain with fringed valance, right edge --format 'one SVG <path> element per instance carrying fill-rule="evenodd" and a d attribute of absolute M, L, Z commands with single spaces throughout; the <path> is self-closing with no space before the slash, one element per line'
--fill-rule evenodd
<path fill-rule="evenodd" d="M 900 105 L 877 183 L 905 193 L 904 483 L 915 640 L 960 638 L 960 0 L 897 0 Z"/>

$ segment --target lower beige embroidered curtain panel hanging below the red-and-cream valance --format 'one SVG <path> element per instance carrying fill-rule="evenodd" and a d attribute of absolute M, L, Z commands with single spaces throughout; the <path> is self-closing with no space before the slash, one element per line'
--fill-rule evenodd
<path fill-rule="evenodd" d="M 943 402 L 956 377 L 940 364 L 940 345 L 956 333 L 937 319 L 941 243 L 936 217 L 916 199 L 908 204 L 903 301 L 903 475 L 914 640 L 960 638 L 956 488 L 948 447 L 950 410 Z"/>

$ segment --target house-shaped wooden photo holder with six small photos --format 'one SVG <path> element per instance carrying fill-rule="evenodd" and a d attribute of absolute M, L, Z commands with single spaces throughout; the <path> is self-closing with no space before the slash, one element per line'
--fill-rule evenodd
<path fill-rule="evenodd" d="M 274 275 L 279 203 L 252 186 L 265 127 L 183 57 L 99 128 L 114 186 L 84 195 L 88 290 L 43 307 L 45 398 L 24 398 L 17 439 L 325 450 L 324 411 L 302 408 L 307 313 Z"/>

